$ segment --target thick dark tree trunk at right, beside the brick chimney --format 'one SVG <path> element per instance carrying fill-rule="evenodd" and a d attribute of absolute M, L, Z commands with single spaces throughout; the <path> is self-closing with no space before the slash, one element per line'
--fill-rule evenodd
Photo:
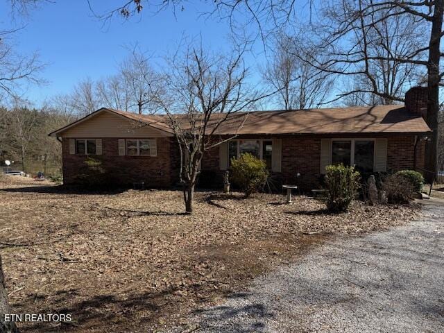
<path fill-rule="evenodd" d="M 432 34 L 429 42 L 429 64 L 427 66 L 427 124 L 432 128 L 431 141 L 425 147 L 425 169 L 432 172 L 425 173 L 428 182 L 432 182 L 438 173 L 438 112 L 439 112 L 439 82 L 441 80 L 439 62 L 441 58 L 441 29 L 443 26 L 444 0 L 436 0 Z"/>

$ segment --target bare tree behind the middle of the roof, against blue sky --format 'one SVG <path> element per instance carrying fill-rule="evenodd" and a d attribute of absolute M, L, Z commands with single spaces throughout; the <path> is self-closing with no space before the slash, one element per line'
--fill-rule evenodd
<path fill-rule="evenodd" d="M 300 59 L 303 49 L 304 43 L 295 37 L 278 35 L 273 58 L 262 73 L 266 83 L 278 92 L 277 103 L 285 110 L 318 107 L 333 83 L 329 73 Z"/>

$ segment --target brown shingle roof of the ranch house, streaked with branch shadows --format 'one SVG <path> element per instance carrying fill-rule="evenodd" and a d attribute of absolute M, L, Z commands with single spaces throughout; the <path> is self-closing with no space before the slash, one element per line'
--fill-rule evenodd
<path fill-rule="evenodd" d="M 169 127 L 169 119 L 165 115 L 140 115 L 110 108 L 105 110 L 120 114 L 128 119 L 146 123 L 167 133 L 173 133 L 173 130 Z M 177 119 L 183 117 L 185 119 L 184 127 L 187 126 L 187 116 L 185 114 L 178 114 L 176 117 Z M 212 115 L 211 122 L 213 126 L 220 117 L 225 117 L 225 114 L 218 113 Z M 53 133 L 58 132 L 60 130 Z M 431 130 L 424 119 L 418 114 L 407 112 L 403 105 L 377 105 L 373 107 L 356 106 L 350 108 L 239 112 L 230 114 L 228 120 L 221 124 L 215 134 L 273 135 L 429 132 Z"/>

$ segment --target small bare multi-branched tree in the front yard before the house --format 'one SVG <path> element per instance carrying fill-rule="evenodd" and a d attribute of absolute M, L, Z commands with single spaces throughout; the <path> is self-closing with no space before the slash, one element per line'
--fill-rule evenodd
<path fill-rule="evenodd" d="M 194 187 L 203 154 L 230 139 L 217 136 L 217 131 L 235 115 L 240 128 L 247 115 L 241 111 L 261 98 L 244 87 L 244 52 L 245 47 L 237 48 L 230 56 L 210 55 L 201 46 L 188 50 L 183 61 L 177 57 L 171 60 L 166 76 L 168 94 L 157 100 L 180 149 L 180 180 L 189 213 L 193 212 Z"/>

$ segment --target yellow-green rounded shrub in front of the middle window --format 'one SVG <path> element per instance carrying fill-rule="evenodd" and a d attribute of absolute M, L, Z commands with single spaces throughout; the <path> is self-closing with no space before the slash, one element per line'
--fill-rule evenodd
<path fill-rule="evenodd" d="M 264 161 L 250 153 L 244 153 L 239 159 L 232 158 L 230 178 L 234 186 L 239 187 L 248 197 L 264 187 L 268 171 Z"/>

